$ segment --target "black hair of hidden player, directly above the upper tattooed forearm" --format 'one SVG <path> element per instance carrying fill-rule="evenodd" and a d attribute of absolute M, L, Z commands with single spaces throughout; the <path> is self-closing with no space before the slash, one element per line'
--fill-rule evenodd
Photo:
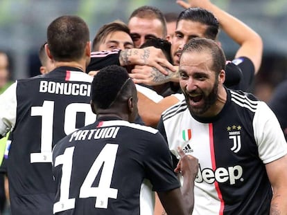
<path fill-rule="evenodd" d="M 155 48 L 162 49 L 162 52 L 166 56 L 166 59 L 168 62 L 172 62 L 171 59 L 171 43 L 167 41 L 166 39 L 161 38 L 150 38 L 147 39 L 140 48 L 146 48 L 148 46 L 154 46 Z"/>

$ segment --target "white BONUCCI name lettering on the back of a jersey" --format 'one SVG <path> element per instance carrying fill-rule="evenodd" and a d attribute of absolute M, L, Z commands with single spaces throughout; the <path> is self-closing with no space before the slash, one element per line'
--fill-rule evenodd
<path fill-rule="evenodd" d="M 91 95 L 91 86 L 89 84 L 78 84 L 69 82 L 48 82 L 41 81 L 39 86 L 40 93 L 53 93 L 63 95 Z"/>

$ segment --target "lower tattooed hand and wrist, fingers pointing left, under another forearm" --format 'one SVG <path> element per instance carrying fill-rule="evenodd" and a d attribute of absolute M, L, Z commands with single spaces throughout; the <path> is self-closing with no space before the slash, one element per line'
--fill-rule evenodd
<path fill-rule="evenodd" d="M 173 66 L 177 69 L 177 66 Z M 159 84 L 164 84 L 166 82 L 179 82 L 179 73 L 170 71 L 168 68 L 164 68 L 167 75 L 161 73 L 157 68 L 151 66 L 135 66 L 132 69 L 132 74 L 130 77 L 134 80 L 136 84 L 146 84 L 149 86 L 156 86 Z"/>

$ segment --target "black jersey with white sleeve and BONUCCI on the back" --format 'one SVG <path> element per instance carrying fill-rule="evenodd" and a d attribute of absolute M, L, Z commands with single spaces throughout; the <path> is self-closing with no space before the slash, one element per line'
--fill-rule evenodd
<path fill-rule="evenodd" d="M 93 77 L 60 67 L 18 80 L 0 96 L 0 134 L 11 129 L 8 179 L 12 214 L 52 214 L 52 148 L 96 121 L 90 102 Z"/>

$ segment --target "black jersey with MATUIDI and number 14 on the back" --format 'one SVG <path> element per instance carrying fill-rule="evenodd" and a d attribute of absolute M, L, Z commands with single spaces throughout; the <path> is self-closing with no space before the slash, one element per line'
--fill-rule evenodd
<path fill-rule="evenodd" d="M 54 214 L 146 215 L 153 207 L 141 205 L 143 180 L 153 191 L 180 187 L 162 135 L 118 118 L 98 119 L 60 140 L 53 176 Z"/>

